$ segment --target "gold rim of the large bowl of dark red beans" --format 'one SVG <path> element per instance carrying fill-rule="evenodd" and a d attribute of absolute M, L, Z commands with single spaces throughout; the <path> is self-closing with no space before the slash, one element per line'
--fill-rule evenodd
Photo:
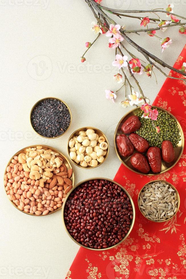
<path fill-rule="evenodd" d="M 67 228 L 66 228 L 66 225 L 65 225 L 65 220 L 64 220 L 64 209 L 65 209 L 65 204 L 66 204 L 66 202 L 67 202 L 67 200 L 68 200 L 70 194 L 75 190 L 75 188 L 77 188 L 77 187 L 80 186 L 81 184 L 83 184 L 83 183 L 85 183 L 85 182 L 87 182 L 87 181 L 89 181 L 89 180 L 96 180 L 96 179 L 98 179 L 98 180 L 108 180 L 108 181 L 110 181 L 110 182 L 113 182 L 113 183 L 117 184 L 119 187 L 121 187 L 121 188 L 123 189 L 123 191 L 126 193 L 126 195 L 129 197 L 130 202 L 131 202 L 131 205 L 132 205 L 132 209 L 133 209 L 133 219 L 132 219 L 131 226 L 130 226 L 130 229 L 129 229 L 128 233 L 125 235 L 125 237 L 124 237 L 119 243 L 117 243 L 117 244 L 115 244 L 115 245 L 113 245 L 113 246 L 111 246 L 111 247 L 108 247 L 108 248 L 106 248 L 106 249 L 94 249 L 94 248 L 89 248 L 89 247 L 86 247 L 86 246 L 84 246 L 84 245 L 78 243 L 78 242 L 70 235 L 70 233 L 68 232 L 68 230 L 67 230 Z M 79 183 L 78 183 L 75 187 L 73 187 L 73 188 L 71 189 L 71 191 L 68 193 L 68 195 L 67 195 L 67 197 L 66 197 L 66 199 L 65 199 L 65 202 L 63 203 L 63 207 L 62 207 L 62 222 L 63 222 L 63 225 L 64 225 L 65 230 L 66 230 L 67 234 L 69 235 L 69 237 L 70 237 L 75 243 L 77 243 L 79 246 L 84 247 L 84 248 L 89 249 L 89 250 L 94 250 L 94 251 L 109 250 L 109 249 L 115 248 L 117 245 L 120 245 L 120 244 L 129 236 L 129 234 L 131 233 L 131 231 L 132 231 L 132 229 L 133 229 L 133 226 L 134 226 L 134 223 L 135 223 L 135 205 L 134 205 L 134 202 L 133 202 L 131 196 L 130 196 L 129 193 L 127 192 L 127 190 L 126 190 L 123 186 L 121 186 L 119 183 L 117 183 L 117 182 L 115 182 L 115 181 L 113 181 L 113 180 L 111 180 L 111 179 L 108 179 L 108 178 L 94 177 L 94 178 L 86 179 L 86 180 L 83 180 L 83 181 L 79 182 Z"/>

